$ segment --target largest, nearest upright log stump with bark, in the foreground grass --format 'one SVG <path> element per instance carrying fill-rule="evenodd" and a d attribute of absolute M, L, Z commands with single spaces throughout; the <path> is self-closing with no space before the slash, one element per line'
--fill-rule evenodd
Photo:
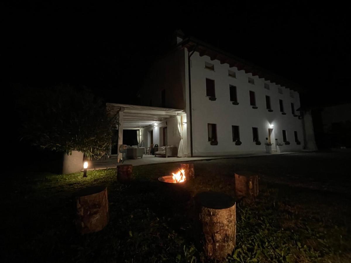
<path fill-rule="evenodd" d="M 195 196 L 201 247 L 212 259 L 223 259 L 236 245 L 236 205 L 223 193 L 203 192 Z"/>

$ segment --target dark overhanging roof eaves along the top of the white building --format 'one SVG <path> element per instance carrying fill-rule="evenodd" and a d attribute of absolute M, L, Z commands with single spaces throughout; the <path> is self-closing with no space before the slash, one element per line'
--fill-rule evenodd
<path fill-rule="evenodd" d="M 200 56 L 209 56 L 211 60 L 219 60 L 221 64 L 227 63 L 229 67 L 237 67 L 238 70 L 244 70 L 245 73 L 251 73 L 253 76 L 258 76 L 259 78 L 265 79 L 272 83 L 276 83 L 282 87 L 301 92 L 303 88 L 296 83 L 293 83 L 284 77 L 281 77 L 263 67 L 254 65 L 253 63 L 246 61 L 244 59 L 238 58 L 224 50 L 211 46 L 199 39 L 193 38 L 192 36 L 185 38 L 182 32 L 177 34 L 183 39 L 178 43 L 178 48 L 187 48 L 188 52 L 193 50 L 199 52 Z"/>

